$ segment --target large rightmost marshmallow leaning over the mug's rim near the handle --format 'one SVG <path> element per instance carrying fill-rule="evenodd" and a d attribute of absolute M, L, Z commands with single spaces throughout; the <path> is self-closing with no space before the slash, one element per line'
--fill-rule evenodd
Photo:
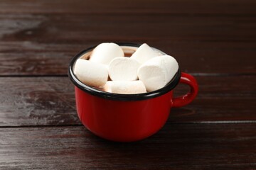
<path fill-rule="evenodd" d="M 154 57 L 138 69 L 139 80 L 143 81 L 146 91 L 164 87 L 178 71 L 178 62 L 169 55 Z"/>

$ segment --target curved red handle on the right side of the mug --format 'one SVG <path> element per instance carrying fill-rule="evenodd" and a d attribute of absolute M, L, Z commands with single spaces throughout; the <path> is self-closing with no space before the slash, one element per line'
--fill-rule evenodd
<path fill-rule="evenodd" d="M 181 79 L 179 83 L 188 84 L 191 90 L 183 96 L 178 96 L 172 99 L 172 107 L 174 108 L 186 106 L 188 103 L 191 103 L 198 94 L 198 83 L 195 77 L 191 76 L 191 74 L 181 72 Z"/>

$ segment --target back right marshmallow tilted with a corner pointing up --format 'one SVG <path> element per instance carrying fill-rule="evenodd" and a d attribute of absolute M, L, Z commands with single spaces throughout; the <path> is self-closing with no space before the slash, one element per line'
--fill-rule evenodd
<path fill-rule="evenodd" d="M 131 58 L 137 60 L 140 64 L 143 64 L 147 60 L 158 56 L 159 54 L 155 52 L 149 45 L 144 43 L 139 46 L 139 48 L 132 54 Z"/>

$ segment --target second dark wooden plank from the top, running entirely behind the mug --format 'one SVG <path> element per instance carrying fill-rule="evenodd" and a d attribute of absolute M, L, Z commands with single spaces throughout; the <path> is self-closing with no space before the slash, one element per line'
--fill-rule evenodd
<path fill-rule="evenodd" d="M 255 16 L 1 14 L 0 23 L 2 40 L 70 43 L 90 40 L 255 41 L 256 38 Z"/>

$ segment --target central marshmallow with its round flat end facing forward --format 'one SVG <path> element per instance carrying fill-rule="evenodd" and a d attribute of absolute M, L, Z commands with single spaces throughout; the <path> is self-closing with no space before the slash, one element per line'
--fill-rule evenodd
<path fill-rule="evenodd" d="M 109 74 L 112 80 L 133 81 L 137 80 L 139 62 L 129 57 L 114 58 L 109 64 Z"/>

